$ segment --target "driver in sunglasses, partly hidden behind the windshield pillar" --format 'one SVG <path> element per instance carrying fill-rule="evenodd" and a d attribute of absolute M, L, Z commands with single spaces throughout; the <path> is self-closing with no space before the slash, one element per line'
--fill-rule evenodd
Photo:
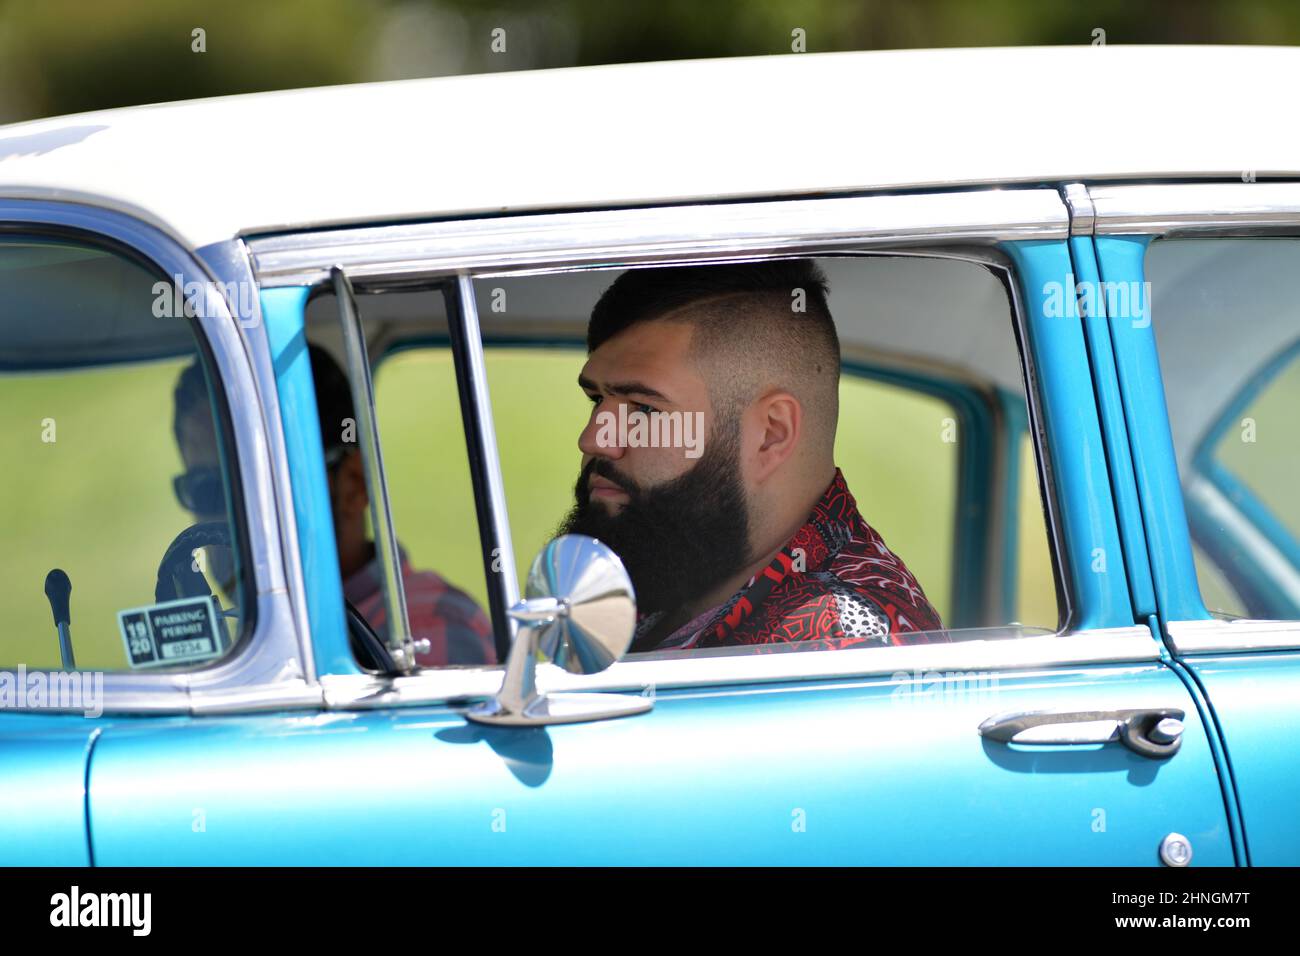
<path fill-rule="evenodd" d="M 386 637 L 387 619 L 374 542 L 365 527 L 369 494 L 361 455 L 356 447 L 351 390 L 347 376 L 328 351 L 315 345 L 308 346 L 308 351 L 316 385 L 343 596 L 382 639 Z M 207 401 L 203 372 L 195 363 L 177 381 L 174 429 L 186 468 L 176 480 L 177 497 L 198 520 L 211 520 L 212 515 L 224 518 L 226 514 Z M 404 551 L 402 581 L 411 635 L 416 641 L 429 641 L 429 649 L 416 654 L 419 666 L 495 662 L 491 623 L 473 598 L 433 571 L 412 568 Z"/>

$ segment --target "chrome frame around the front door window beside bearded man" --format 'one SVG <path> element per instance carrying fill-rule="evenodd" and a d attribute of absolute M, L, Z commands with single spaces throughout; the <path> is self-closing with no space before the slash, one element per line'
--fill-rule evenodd
<path fill-rule="evenodd" d="M 997 224 L 997 225 L 989 225 Z M 1056 189 L 988 189 L 846 199 L 774 200 L 655 207 L 601 212 L 369 226 L 250 238 L 263 287 L 322 285 L 342 264 L 359 290 L 495 274 L 563 273 L 681 261 L 724 261 L 790 255 L 888 254 L 954 258 L 1001 271 L 1010 298 L 1031 433 L 1040 477 L 1050 475 L 1041 444 L 1040 403 L 1032 360 L 1024 347 L 1024 310 L 1010 263 L 993 245 L 1009 239 L 1066 239 L 1070 220 Z M 464 304 L 464 303 L 463 303 Z M 481 339 L 477 350 L 482 349 Z M 481 371 L 477 372 L 481 376 Z M 472 382 L 486 401 L 485 377 Z M 495 449 L 495 436 L 491 436 Z M 500 488 L 499 471 L 495 475 Z M 1056 567 L 1063 568 L 1054 485 L 1048 488 L 1048 533 Z M 490 489 L 489 489 L 490 490 Z M 494 507 L 504 507 L 495 503 Z M 508 515 L 503 516 L 508 522 Z M 512 585 L 511 581 L 507 587 Z M 1067 581 L 1060 581 L 1070 619 Z M 1082 636 L 1087 640 L 1078 640 Z M 1069 639 L 1069 640 L 1063 640 Z M 790 653 L 685 659 L 628 659 L 608 671 L 575 678 L 543 666 L 547 689 L 640 689 L 753 682 L 850 679 L 909 669 L 1008 670 L 1079 663 L 1157 661 L 1145 626 L 1070 631 L 1008 640 L 867 648 L 835 654 Z M 411 676 L 328 675 L 321 679 L 332 709 L 446 704 L 484 697 L 499 685 L 499 667 L 441 669 Z"/>

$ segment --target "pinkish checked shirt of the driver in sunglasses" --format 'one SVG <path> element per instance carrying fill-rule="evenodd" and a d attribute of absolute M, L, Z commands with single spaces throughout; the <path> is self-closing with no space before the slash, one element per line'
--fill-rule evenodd
<path fill-rule="evenodd" d="M 495 663 L 491 623 L 474 600 L 433 571 L 415 571 L 404 550 L 400 557 L 411 636 L 429 641 L 429 652 L 416 654 L 416 663 L 421 667 Z M 377 557 L 343 581 L 343 596 L 370 622 L 381 640 L 387 637 L 387 609 Z"/>

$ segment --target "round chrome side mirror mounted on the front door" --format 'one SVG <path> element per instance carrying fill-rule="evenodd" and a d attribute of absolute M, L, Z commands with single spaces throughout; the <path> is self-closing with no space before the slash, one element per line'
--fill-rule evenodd
<path fill-rule="evenodd" d="M 619 693 L 538 693 L 537 658 L 572 674 L 598 674 L 632 646 L 637 604 L 623 562 L 582 535 L 550 541 L 533 561 L 524 600 L 510 609 L 519 635 L 497 696 L 465 717 L 478 723 L 537 727 L 640 714 L 647 697 Z"/>

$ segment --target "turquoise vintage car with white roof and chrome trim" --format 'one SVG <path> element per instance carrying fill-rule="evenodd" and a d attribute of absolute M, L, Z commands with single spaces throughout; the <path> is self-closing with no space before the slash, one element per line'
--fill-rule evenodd
<path fill-rule="evenodd" d="M 0 130 L 0 862 L 1300 864 L 1296 75 L 788 55 Z M 829 280 L 838 463 L 944 640 L 630 653 L 618 558 L 551 540 L 595 298 L 764 259 Z M 407 564 L 504 663 L 421 662 Z"/>

